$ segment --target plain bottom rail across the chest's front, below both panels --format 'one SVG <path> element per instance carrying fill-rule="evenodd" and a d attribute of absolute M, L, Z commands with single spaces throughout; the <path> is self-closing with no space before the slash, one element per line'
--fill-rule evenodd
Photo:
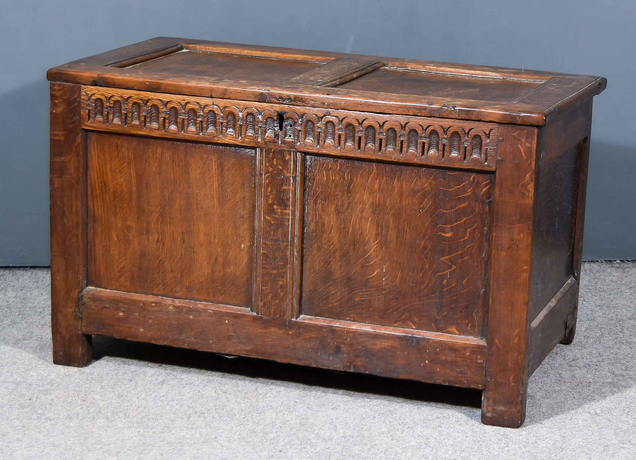
<path fill-rule="evenodd" d="M 355 323 L 259 316 L 205 302 L 87 288 L 82 330 L 279 362 L 483 388 L 485 344 Z"/>

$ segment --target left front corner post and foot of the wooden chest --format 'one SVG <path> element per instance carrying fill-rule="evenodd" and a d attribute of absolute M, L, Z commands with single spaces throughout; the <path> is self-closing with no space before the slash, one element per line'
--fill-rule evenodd
<path fill-rule="evenodd" d="M 85 366 L 90 336 L 79 332 L 86 286 L 86 151 L 80 86 L 51 84 L 51 332 L 53 362 Z"/>

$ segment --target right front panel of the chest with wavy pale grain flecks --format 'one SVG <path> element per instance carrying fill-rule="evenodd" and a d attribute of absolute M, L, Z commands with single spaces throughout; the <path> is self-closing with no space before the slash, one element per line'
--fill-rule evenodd
<path fill-rule="evenodd" d="M 301 315 L 484 336 L 491 174 L 304 158 Z"/>

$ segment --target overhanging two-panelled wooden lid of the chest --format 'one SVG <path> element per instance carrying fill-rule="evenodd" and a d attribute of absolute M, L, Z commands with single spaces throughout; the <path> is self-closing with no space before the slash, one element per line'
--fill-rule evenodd
<path fill-rule="evenodd" d="M 158 37 L 60 65 L 50 81 L 322 109 L 541 126 L 602 77 Z"/>

